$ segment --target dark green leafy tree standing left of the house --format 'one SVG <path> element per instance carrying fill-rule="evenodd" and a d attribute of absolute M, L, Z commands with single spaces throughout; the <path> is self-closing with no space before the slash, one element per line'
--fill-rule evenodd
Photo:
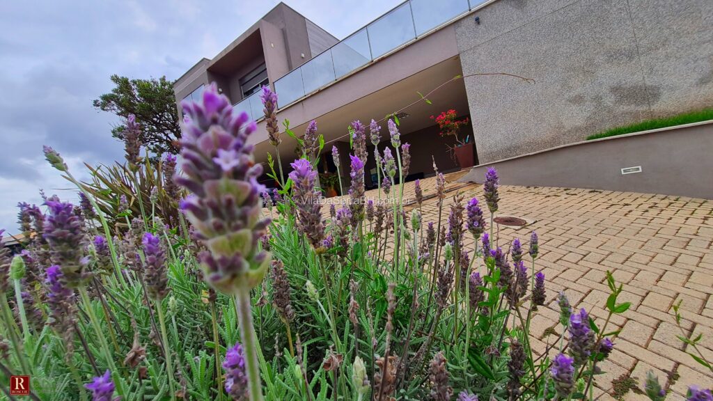
<path fill-rule="evenodd" d="M 180 138 L 178 110 L 173 94 L 173 82 L 165 76 L 158 79 L 129 79 L 112 75 L 116 85 L 111 93 L 105 93 L 93 101 L 94 107 L 110 111 L 117 116 L 136 116 L 141 126 L 141 143 L 158 155 L 178 153 L 175 143 Z M 116 126 L 111 136 L 123 141 L 125 126 Z"/>

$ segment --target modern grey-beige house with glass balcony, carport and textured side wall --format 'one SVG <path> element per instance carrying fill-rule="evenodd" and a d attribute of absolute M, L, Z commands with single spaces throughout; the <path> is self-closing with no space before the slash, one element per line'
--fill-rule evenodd
<path fill-rule="evenodd" d="M 707 0 L 406 0 L 339 41 L 280 3 L 178 78 L 175 94 L 215 81 L 258 121 L 264 162 L 274 149 L 258 91 L 270 85 L 292 131 L 317 121 L 320 171 L 334 171 L 332 144 L 348 165 L 350 122 L 397 113 L 411 178 L 429 176 L 431 156 L 441 171 L 459 168 L 431 118 L 448 109 L 470 118 L 476 163 L 491 163 L 712 106 L 712 10 Z M 287 166 L 296 143 L 283 138 Z"/>

